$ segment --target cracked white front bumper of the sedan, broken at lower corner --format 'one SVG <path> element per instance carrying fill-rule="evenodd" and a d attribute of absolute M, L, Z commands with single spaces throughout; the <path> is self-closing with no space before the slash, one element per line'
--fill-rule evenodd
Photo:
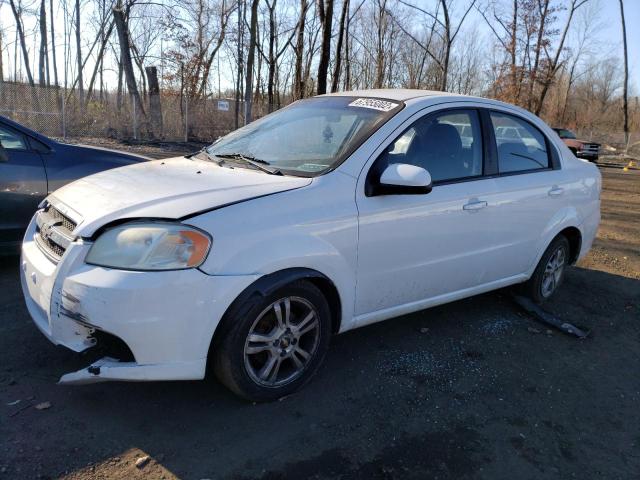
<path fill-rule="evenodd" d="M 73 242 L 58 264 L 29 226 L 21 283 L 34 323 L 54 344 L 80 352 L 99 333 L 124 342 L 134 361 L 104 358 L 60 383 L 196 380 L 205 375 L 213 332 L 256 275 L 211 276 L 200 270 L 134 272 L 87 265 L 90 244 Z"/>

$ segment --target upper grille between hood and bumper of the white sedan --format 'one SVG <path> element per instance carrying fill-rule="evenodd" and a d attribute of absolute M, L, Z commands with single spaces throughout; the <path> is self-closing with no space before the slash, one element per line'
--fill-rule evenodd
<path fill-rule="evenodd" d="M 36 214 L 35 240 L 50 260 L 57 263 L 73 241 L 76 223 L 52 205 Z"/>

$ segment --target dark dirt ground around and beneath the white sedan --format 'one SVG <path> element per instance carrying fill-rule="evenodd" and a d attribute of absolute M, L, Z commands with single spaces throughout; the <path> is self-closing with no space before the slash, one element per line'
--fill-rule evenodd
<path fill-rule="evenodd" d="M 493 292 L 336 337 L 271 404 L 213 380 L 56 385 L 87 360 L 36 330 L 0 260 L 0 478 L 638 478 L 640 171 L 622 164 L 603 162 L 598 239 L 545 307 L 588 339 Z"/>

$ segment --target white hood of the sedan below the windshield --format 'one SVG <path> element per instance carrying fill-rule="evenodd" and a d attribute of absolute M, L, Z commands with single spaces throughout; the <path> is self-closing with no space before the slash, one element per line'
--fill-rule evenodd
<path fill-rule="evenodd" d="M 179 219 L 310 183 L 310 178 L 269 175 L 179 157 L 81 178 L 56 190 L 47 200 L 77 223 L 77 235 L 87 237 L 114 220 Z"/>

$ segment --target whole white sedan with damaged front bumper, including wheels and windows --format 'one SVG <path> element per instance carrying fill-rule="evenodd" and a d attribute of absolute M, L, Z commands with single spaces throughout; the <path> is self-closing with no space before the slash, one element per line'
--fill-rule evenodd
<path fill-rule="evenodd" d="M 53 343 L 112 352 L 61 383 L 210 367 L 268 401 L 309 380 L 333 334 L 514 284 L 548 299 L 591 247 L 600 190 L 594 165 L 512 105 L 318 96 L 192 156 L 57 190 L 26 233 L 22 287 Z"/>

